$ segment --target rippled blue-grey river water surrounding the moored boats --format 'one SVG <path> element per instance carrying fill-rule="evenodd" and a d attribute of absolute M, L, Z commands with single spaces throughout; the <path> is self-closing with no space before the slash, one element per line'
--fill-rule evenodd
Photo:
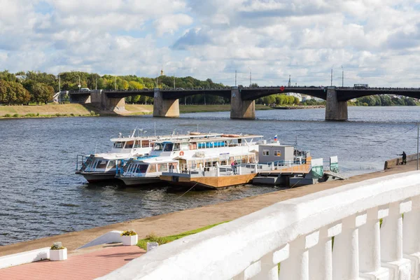
<path fill-rule="evenodd" d="M 74 174 L 76 155 L 105 152 L 111 137 L 134 127 L 153 135 L 175 132 L 253 133 L 311 151 L 338 155 L 342 173 L 374 172 L 405 151 L 416 153 L 420 106 L 349 107 L 349 121 L 325 122 L 324 109 L 257 111 L 256 120 L 229 112 L 151 116 L 0 120 L 0 246 L 181 209 L 269 193 L 279 188 L 241 186 L 186 195 L 169 188 L 89 185 Z M 123 230 L 123 229 L 122 229 Z M 147 232 L 146 232 L 147 233 Z"/>

